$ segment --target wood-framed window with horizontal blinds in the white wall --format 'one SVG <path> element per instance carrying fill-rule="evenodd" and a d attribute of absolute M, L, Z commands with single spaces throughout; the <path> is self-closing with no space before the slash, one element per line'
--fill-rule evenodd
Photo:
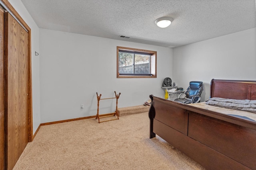
<path fill-rule="evenodd" d="M 117 78 L 156 78 L 156 51 L 117 47 Z"/>

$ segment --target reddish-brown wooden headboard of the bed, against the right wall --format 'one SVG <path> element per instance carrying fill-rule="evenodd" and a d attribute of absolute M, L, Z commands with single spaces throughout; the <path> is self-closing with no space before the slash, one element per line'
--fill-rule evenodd
<path fill-rule="evenodd" d="M 256 100 L 256 81 L 212 79 L 210 98 L 213 97 Z"/>

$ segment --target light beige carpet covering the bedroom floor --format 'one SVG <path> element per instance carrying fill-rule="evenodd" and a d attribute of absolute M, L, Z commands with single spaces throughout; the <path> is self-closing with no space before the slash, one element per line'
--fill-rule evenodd
<path fill-rule="evenodd" d="M 203 170 L 156 136 L 148 112 L 41 126 L 13 170 Z"/>

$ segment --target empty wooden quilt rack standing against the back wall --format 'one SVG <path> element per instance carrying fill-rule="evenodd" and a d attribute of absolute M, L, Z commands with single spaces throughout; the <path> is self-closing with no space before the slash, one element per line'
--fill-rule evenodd
<path fill-rule="evenodd" d="M 115 95 L 116 95 L 116 91 L 114 91 L 114 92 L 115 92 Z M 110 117 L 110 116 L 116 116 L 116 115 L 117 115 L 117 118 L 116 118 L 116 119 L 110 119 L 110 120 L 106 120 L 106 121 L 111 121 L 111 120 L 117 120 L 117 119 L 119 119 L 119 114 L 118 114 L 118 111 L 117 111 L 117 103 L 118 103 L 118 99 L 119 99 L 121 93 L 119 93 L 118 95 L 116 95 L 115 98 L 104 98 L 104 99 L 100 99 L 101 94 L 100 94 L 100 96 L 98 96 L 98 92 L 96 92 L 96 94 L 97 94 L 97 100 L 98 100 L 98 109 L 97 109 L 96 119 L 99 120 L 99 123 L 105 122 L 105 121 L 100 121 L 100 118 L 104 118 L 104 117 Z M 100 100 L 106 100 L 106 99 L 116 99 L 116 111 L 113 112 L 113 113 L 106 113 L 106 114 L 104 114 L 104 116 L 100 116 L 100 115 L 99 115 Z"/>

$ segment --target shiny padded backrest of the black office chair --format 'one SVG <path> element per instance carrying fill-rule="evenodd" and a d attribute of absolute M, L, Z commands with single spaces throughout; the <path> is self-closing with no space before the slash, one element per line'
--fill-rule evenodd
<path fill-rule="evenodd" d="M 189 82 L 189 87 L 186 91 L 186 98 L 192 99 L 192 95 L 201 96 L 203 91 L 203 82 L 192 81 Z"/>

